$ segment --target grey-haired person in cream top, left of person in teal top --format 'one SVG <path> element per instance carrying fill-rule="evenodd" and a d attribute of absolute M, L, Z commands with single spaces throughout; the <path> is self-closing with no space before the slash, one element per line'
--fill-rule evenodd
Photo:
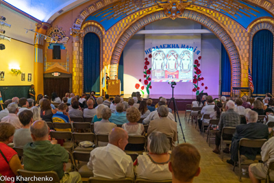
<path fill-rule="evenodd" d="M 117 125 L 108 121 L 112 114 L 110 108 L 105 108 L 103 106 L 100 106 L 99 108 L 103 108 L 101 112 L 102 119 L 101 121 L 95 122 L 95 134 L 109 134 Z"/>

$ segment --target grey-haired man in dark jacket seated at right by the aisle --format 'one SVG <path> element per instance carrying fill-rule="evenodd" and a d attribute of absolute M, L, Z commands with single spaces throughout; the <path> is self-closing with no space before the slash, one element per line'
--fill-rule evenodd
<path fill-rule="evenodd" d="M 262 139 L 269 137 L 269 128 L 258 121 L 258 113 L 256 111 L 249 111 L 245 116 L 247 124 L 240 124 L 236 126 L 236 132 L 232 138 L 231 160 L 227 160 L 229 164 L 234 164 L 238 161 L 238 146 L 240 138 Z M 240 154 L 245 155 L 251 160 L 255 160 L 256 154 L 260 154 L 260 148 L 240 147 Z"/>

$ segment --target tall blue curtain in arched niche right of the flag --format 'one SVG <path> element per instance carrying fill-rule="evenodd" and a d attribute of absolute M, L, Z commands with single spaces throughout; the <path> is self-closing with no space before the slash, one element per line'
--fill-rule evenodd
<path fill-rule="evenodd" d="M 253 96 L 272 93 L 273 34 L 260 30 L 252 40 Z"/>

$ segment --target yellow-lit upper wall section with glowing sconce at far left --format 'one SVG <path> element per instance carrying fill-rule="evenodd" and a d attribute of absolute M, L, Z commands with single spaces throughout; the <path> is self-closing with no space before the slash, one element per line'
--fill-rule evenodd
<path fill-rule="evenodd" d="M 0 81 L 0 86 L 18 86 L 34 84 L 34 45 L 29 45 L 17 40 L 0 40 L 0 44 L 5 45 L 4 50 L 0 50 L 0 71 L 5 71 L 5 81 Z M 10 71 L 10 66 L 19 66 L 25 73 L 25 82 L 21 81 L 21 75 L 14 75 Z M 27 74 L 32 73 L 32 82 L 27 81 Z"/>

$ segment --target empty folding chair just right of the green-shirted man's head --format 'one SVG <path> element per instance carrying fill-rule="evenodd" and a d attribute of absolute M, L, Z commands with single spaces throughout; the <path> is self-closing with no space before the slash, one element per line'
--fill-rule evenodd
<path fill-rule="evenodd" d="M 64 149 L 68 150 L 69 152 L 73 151 L 73 134 L 71 132 L 56 132 L 56 131 L 51 131 L 49 132 L 49 135 L 51 136 L 51 140 L 52 138 L 55 138 L 57 140 L 71 140 L 71 142 L 69 141 L 65 141 L 62 144 L 62 147 L 64 147 Z"/>

